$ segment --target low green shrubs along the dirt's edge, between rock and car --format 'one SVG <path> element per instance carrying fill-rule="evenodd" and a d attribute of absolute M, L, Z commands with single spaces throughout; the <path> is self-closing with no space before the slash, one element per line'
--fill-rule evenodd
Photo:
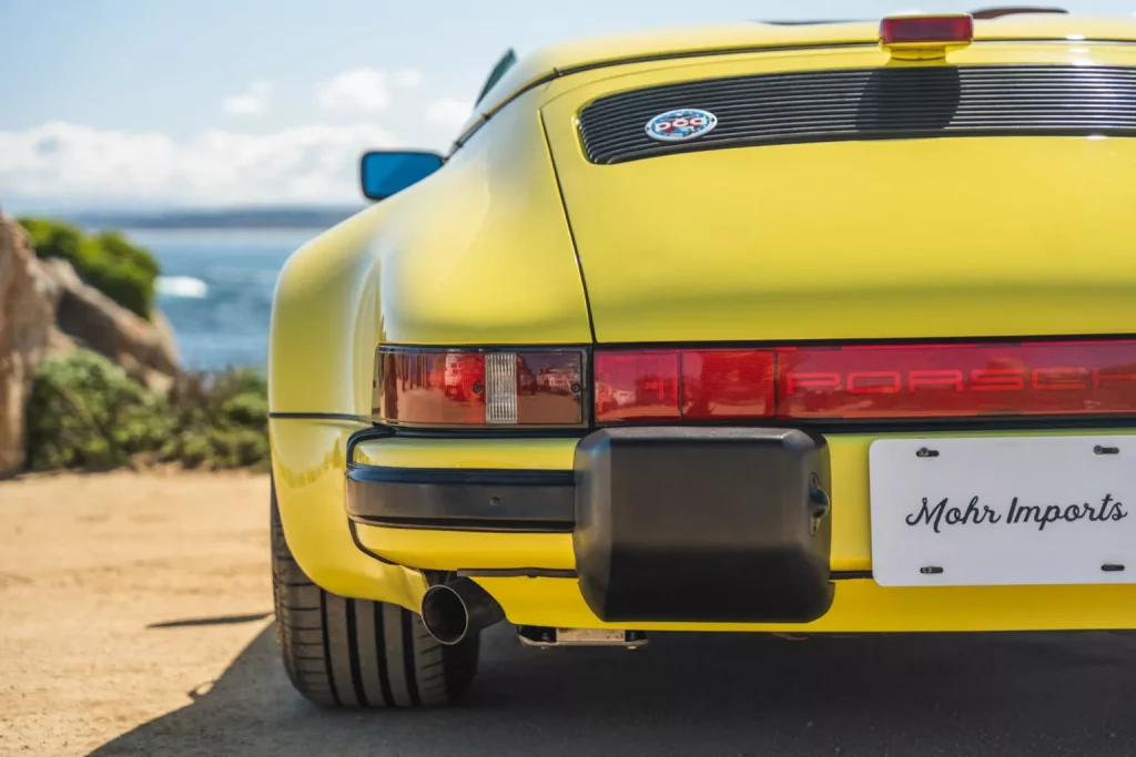
<path fill-rule="evenodd" d="M 40 365 L 27 407 L 33 470 L 107 470 L 137 460 L 267 468 L 267 381 L 251 370 L 191 373 L 168 398 L 105 358 L 77 351 Z"/>

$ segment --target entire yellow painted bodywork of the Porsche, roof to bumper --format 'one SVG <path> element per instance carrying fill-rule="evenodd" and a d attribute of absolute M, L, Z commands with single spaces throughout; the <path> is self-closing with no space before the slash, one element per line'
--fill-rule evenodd
<path fill-rule="evenodd" d="M 417 609 L 427 586 L 419 569 L 574 566 L 570 533 L 359 525 L 352 536 L 346 445 L 370 426 L 381 344 L 591 345 L 593 328 L 599 344 L 1136 333 L 1133 138 L 852 141 L 616 166 L 584 157 L 576 119 L 596 96 L 895 65 L 875 35 L 875 24 L 737 25 L 538 53 L 490 92 L 442 170 L 298 251 L 273 309 L 269 432 L 284 531 L 308 575 L 336 594 Z M 976 36 L 945 65 L 1136 67 L 1136 45 L 1125 43 L 1136 41 L 1131 19 L 1003 19 L 977 24 Z M 676 182 L 700 191 L 678 207 L 651 196 Z M 468 436 L 375 439 L 353 462 L 573 465 L 574 438 Z M 871 567 L 867 449 L 884 436 L 894 435 L 828 436 L 834 570 Z M 477 580 L 512 622 L 604 625 L 574 580 Z M 835 596 L 809 624 L 636 625 L 1136 628 L 1133 584 L 887 589 L 868 579 L 837 582 Z"/>

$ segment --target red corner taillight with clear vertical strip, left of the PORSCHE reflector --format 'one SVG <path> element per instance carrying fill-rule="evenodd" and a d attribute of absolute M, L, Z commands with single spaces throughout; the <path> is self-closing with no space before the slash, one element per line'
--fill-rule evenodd
<path fill-rule="evenodd" d="M 580 426 L 580 351 L 381 347 L 374 414 L 407 426 Z"/>

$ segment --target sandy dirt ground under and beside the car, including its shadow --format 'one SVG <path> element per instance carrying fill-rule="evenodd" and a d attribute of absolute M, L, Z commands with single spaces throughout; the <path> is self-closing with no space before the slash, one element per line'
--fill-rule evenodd
<path fill-rule="evenodd" d="M 1136 755 L 1136 638 L 1106 632 L 537 650 L 501 624 L 457 708 L 321 710 L 279 663 L 267 497 L 262 476 L 0 482 L 0 755 Z"/>

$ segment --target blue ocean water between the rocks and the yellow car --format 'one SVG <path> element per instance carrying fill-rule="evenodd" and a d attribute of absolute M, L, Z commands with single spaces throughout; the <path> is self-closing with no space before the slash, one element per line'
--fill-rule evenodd
<path fill-rule="evenodd" d="M 276 277 L 287 256 L 323 229 L 126 229 L 161 266 L 158 306 L 194 370 L 264 368 Z"/>

